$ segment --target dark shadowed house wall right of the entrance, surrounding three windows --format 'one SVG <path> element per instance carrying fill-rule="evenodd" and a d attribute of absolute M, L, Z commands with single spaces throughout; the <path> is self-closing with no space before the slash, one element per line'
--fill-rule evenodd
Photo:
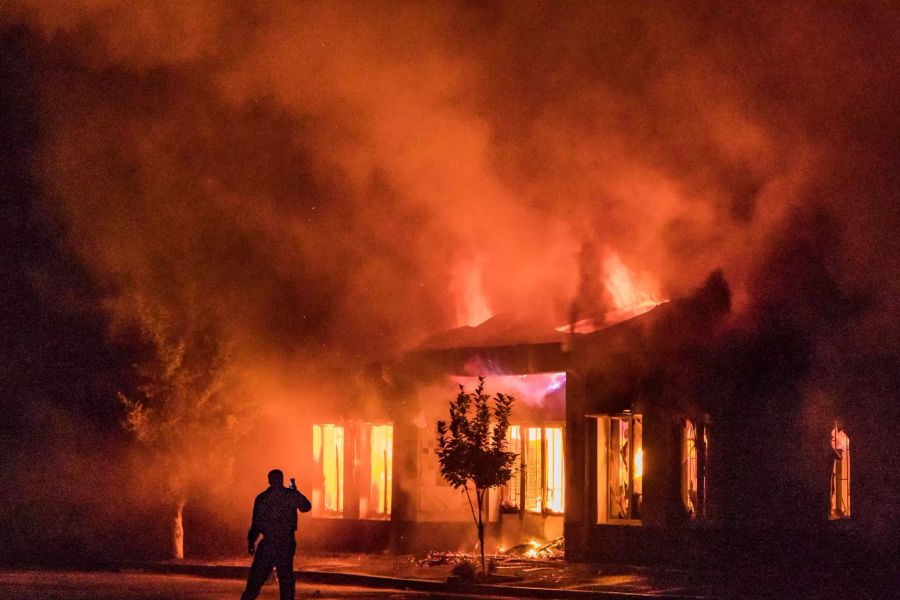
<path fill-rule="evenodd" d="M 825 565 L 842 557 L 849 560 L 848 549 L 859 546 L 854 520 L 866 507 L 860 490 L 871 471 L 862 452 L 853 448 L 855 514 L 847 521 L 829 522 L 833 413 L 786 408 L 802 406 L 799 397 L 780 399 L 783 405 L 768 411 L 730 402 L 720 405 L 725 410 L 716 410 L 715 405 L 684 401 L 683 389 L 650 394 L 637 385 L 610 381 L 605 373 L 589 373 L 584 389 L 583 395 L 570 391 L 567 411 L 568 431 L 580 431 L 568 440 L 567 498 L 573 501 L 567 503 L 567 558 L 702 565 L 724 555 L 736 562 L 806 560 Z M 629 389 L 631 394 L 623 393 Z M 629 396 L 632 413 L 643 416 L 642 519 L 598 522 L 601 483 L 598 420 L 593 415 L 620 413 L 622 398 Z M 703 408 L 710 412 L 701 413 Z M 685 417 L 708 421 L 710 432 L 707 517 L 695 520 L 687 515 L 680 495 Z M 856 420 L 851 416 L 845 422 L 852 432 Z M 583 474 L 580 480 L 575 478 L 578 473 Z M 581 519 L 576 518 L 579 510 Z"/>

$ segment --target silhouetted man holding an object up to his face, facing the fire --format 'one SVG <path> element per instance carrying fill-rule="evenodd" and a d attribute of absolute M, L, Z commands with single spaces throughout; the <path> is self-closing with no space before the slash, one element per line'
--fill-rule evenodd
<path fill-rule="evenodd" d="M 247 551 L 253 557 L 247 587 L 241 600 L 253 600 L 259 595 L 272 567 L 278 572 L 281 600 L 294 598 L 294 551 L 297 542 L 297 511 L 309 512 L 309 500 L 293 487 L 284 487 L 284 473 L 269 471 L 269 489 L 253 502 L 253 522 L 247 532 Z M 256 539 L 263 538 L 256 545 Z"/>

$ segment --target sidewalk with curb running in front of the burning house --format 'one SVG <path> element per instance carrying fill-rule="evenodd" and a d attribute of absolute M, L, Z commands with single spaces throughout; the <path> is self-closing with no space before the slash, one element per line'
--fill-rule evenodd
<path fill-rule="evenodd" d="M 388 554 L 298 555 L 294 563 L 299 581 L 324 585 L 353 585 L 379 589 L 428 592 L 435 597 L 482 595 L 517 598 L 640 597 L 714 598 L 721 589 L 708 576 L 671 569 L 627 565 L 567 563 L 557 559 L 511 556 L 491 557 L 495 567 L 491 583 L 447 583 L 453 568 L 472 555 L 435 553 L 425 558 Z M 250 557 L 222 560 L 132 563 L 125 568 L 202 577 L 244 579 Z"/>

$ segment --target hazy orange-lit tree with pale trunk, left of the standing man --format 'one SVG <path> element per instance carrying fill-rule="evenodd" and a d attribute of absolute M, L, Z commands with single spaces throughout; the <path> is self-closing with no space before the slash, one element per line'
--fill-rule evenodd
<path fill-rule="evenodd" d="M 219 336 L 176 331 L 147 305 L 139 312 L 146 356 L 137 390 L 119 400 L 124 425 L 146 453 L 149 478 L 174 507 L 172 555 L 184 558 L 183 512 L 191 490 L 218 491 L 232 479 L 235 448 L 252 421 L 236 393 L 230 353 Z"/>

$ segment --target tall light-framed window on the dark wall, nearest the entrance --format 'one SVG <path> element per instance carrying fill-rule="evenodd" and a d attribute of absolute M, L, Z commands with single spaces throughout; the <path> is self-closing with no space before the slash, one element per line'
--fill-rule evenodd
<path fill-rule="evenodd" d="M 641 415 L 598 419 L 598 521 L 640 520 L 644 478 L 642 434 Z"/>

